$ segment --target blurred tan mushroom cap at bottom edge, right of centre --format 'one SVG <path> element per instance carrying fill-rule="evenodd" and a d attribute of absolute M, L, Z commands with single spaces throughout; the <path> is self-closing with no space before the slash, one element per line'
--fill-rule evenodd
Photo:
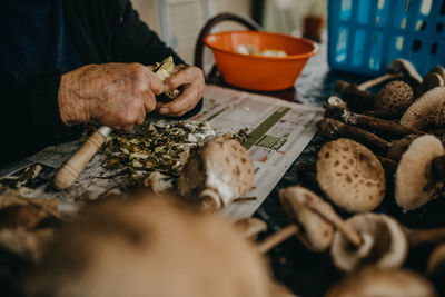
<path fill-rule="evenodd" d="M 433 285 L 407 269 L 367 268 L 335 284 L 325 297 L 436 297 Z"/>

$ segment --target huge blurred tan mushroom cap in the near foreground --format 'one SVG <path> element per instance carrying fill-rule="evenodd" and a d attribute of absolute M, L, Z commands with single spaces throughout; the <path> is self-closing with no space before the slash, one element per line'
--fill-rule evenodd
<path fill-rule="evenodd" d="M 270 296 L 264 258 L 221 216 L 131 198 L 63 226 L 27 296 Z"/>

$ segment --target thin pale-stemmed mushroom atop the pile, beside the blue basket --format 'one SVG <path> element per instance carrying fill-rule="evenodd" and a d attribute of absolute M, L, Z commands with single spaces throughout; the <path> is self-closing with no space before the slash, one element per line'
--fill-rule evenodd
<path fill-rule="evenodd" d="M 395 59 L 389 63 L 386 75 L 360 83 L 358 86 L 358 89 L 367 90 L 374 86 L 377 86 L 390 79 L 405 79 L 413 86 L 418 86 L 422 83 L 421 75 L 417 72 L 416 68 L 408 60 Z"/>

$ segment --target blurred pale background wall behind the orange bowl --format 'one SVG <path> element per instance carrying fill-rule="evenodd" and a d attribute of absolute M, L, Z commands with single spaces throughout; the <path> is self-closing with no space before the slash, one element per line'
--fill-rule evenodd
<path fill-rule="evenodd" d="M 131 0 L 141 19 L 186 60 L 194 62 L 197 37 L 206 21 L 220 12 L 235 12 L 259 22 L 265 30 L 300 34 L 307 13 L 326 16 L 326 0 Z M 233 22 L 215 31 L 244 29 Z M 211 62 L 206 52 L 205 60 Z"/>

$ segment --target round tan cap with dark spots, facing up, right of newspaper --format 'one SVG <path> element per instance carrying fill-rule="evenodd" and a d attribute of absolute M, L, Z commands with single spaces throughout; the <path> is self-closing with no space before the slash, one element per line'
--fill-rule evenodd
<path fill-rule="evenodd" d="M 339 138 L 318 152 L 317 181 L 338 207 L 349 212 L 376 208 L 385 196 L 385 171 L 365 146 Z"/>

